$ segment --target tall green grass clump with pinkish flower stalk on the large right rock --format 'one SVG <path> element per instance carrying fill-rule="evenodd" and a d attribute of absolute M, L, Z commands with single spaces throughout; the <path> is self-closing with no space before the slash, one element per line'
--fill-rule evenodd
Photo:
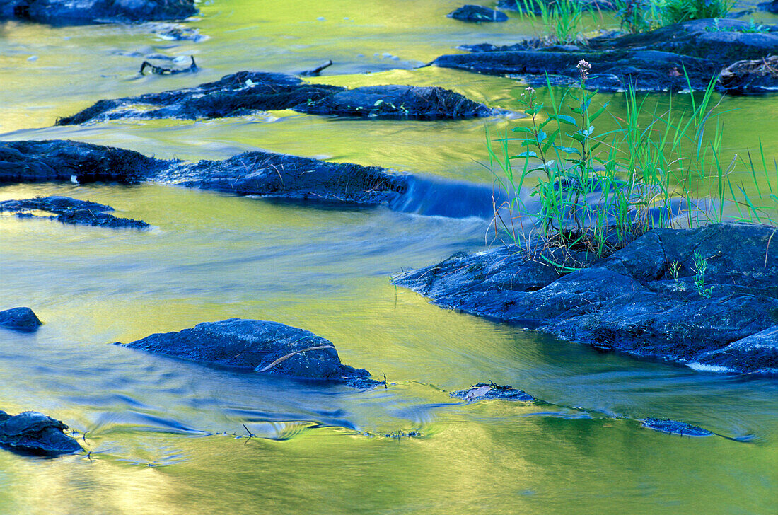
<path fill-rule="evenodd" d="M 715 80 L 701 98 L 690 94 L 691 107 L 680 111 L 671 102 L 649 112 L 646 99 L 629 89 L 626 115 L 617 117 L 608 103 L 593 105 L 588 63 L 580 61 L 578 69 L 580 87 L 560 96 L 547 84 L 548 107 L 534 88 L 526 89 L 519 102 L 530 123 L 506 127 L 494 141 L 487 128 L 489 169 L 509 195 L 495 208 L 495 227 L 511 240 L 539 236 L 605 256 L 657 227 L 774 223 L 778 165 L 771 171 L 761 142 L 756 163 L 750 152 L 725 160 Z M 608 118 L 612 128 L 598 131 L 595 122 Z M 731 180 L 738 167 L 752 184 Z M 527 187 L 529 198 L 521 194 Z"/>

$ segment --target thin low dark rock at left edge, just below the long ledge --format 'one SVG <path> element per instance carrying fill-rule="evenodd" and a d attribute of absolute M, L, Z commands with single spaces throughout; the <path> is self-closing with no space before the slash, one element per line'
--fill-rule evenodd
<path fill-rule="evenodd" d="M 33 211 L 54 213 L 55 216 L 34 215 Z M 107 227 L 110 229 L 148 229 L 142 220 L 111 215 L 110 205 L 70 197 L 37 197 L 24 200 L 0 201 L 0 212 L 13 212 L 22 218 L 53 218 L 72 225 Z"/>

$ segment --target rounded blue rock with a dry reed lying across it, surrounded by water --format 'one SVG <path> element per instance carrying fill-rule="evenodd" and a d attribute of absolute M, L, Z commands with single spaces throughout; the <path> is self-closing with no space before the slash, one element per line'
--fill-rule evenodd
<path fill-rule="evenodd" d="M 379 384 L 367 370 L 342 364 L 329 340 L 278 322 L 230 318 L 117 345 L 247 372 L 359 388 Z"/>

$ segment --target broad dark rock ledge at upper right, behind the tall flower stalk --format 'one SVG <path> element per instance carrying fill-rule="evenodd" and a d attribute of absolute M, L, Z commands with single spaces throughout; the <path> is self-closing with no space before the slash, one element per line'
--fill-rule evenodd
<path fill-rule="evenodd" d="M 588 89 L 647 91 L 685 89 L 689 82 L 704 89 L 718 78 L 717 89 L 731 94 L 778 91 L 778 27 L 734 19 L 698 19 L 648 33 L 609 35 L 584 45 L 543 45 L 531 40 L 510 46 L 476 44 L 460 47 L 470 54 L 449 54 L 431 64 L 489 75 L 508 75 L 532 86 L 578 84 L 578 62 L 591 64 Z M 768 59 L 766 61 L 766 59 Z"/>

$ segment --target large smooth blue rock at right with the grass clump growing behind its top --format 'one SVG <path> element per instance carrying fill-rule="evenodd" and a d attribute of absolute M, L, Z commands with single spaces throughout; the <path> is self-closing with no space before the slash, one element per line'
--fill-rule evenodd
<path fill-rule="evenodd" d="M 704 259 L 703 285 L 696 274 Z M 561 266 L 551 266 L 548 262 Z M 561 267 L 576 267 L 562 275 Z M 605 259 L 538 243 L 401 273 L 432 303 L 698 370 L 778 374 L 778 229 L 655 229 Z"/>

